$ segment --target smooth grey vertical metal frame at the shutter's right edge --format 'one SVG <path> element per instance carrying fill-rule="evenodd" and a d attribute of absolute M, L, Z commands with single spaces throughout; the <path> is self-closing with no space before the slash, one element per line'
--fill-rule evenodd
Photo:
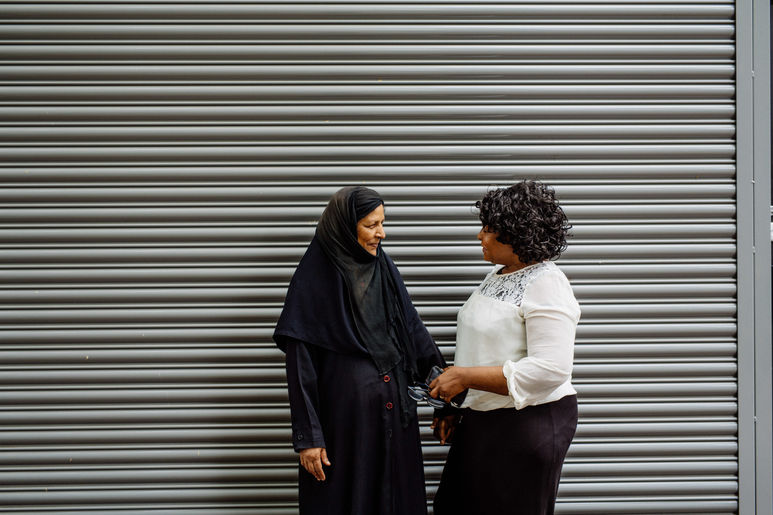
<path fill-rule="evenodd" d="M 771 515 L 769 0 L 736 2 L 736 34 L 738 513 Z"/>

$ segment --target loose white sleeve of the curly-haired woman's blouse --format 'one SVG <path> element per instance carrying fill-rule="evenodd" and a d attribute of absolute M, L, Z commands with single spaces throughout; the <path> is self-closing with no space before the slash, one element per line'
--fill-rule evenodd
<path fill-rule="evenodd" d="M 516 408 L 546 398 L 569 381 L 580 306 L 563 273 L 545 270 L 526 285 L 520 310 L 526 321 L 526 357 L 506 361 L 502 373 Z"/>

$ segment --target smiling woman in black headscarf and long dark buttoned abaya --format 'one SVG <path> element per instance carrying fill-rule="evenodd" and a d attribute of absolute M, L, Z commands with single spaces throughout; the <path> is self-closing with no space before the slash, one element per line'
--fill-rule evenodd
<path fill-rule="evenodd" d="M 376 191 L 336 192 L 274 331 L 287 354 L 301 515 L 427 513 L 407 387 L 446 364 L 380 246 L 382 223 Z"/>

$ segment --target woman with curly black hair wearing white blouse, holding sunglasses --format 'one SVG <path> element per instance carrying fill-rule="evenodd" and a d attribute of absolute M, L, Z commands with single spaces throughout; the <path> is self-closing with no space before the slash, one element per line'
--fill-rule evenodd
<path fill-rule="evenodd" d="M 444 408 L 432 424 L 451 442 L 434 513 L 552 515 L 577 429 L 580 307 L 550 260 L 571 226 L 538 181 L 489 191 L 476 206 L 483 259 L 495 267 L 459 311 L 455 366 L 430 385 L 444 400 L 469 389 L 458 412 Z"/>

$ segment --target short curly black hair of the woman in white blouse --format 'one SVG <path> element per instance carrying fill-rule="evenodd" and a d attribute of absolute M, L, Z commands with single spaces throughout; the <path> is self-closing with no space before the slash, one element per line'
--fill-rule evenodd
<path fill-rule="evenodd" d="M 558 205 L 556 191 L 540 181 L 520 181 L 497 188 L 475 202 L 486 232 L 497 232 L 498 242 L 512 246 L 521 263 L 556 259 L 567 249 L 571 229 Z"/>

